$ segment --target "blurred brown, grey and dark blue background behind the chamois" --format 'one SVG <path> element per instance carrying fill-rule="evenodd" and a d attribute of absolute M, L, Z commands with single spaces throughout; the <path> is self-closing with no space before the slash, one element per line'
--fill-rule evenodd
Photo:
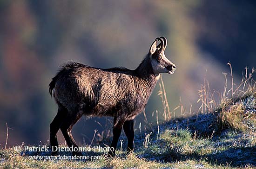
<path fill-rule="evenodd" d="M 206 70 L 210 88 L 223 92 L 226 63 L 236 82 L 246 66 L 256 66 L 256 1 L 0 0 L 1 146 L 6 123 L 8 146 L 47 143 L 57 112 L 48 84 L 59 65 L 135 69 L 159 36 L 168 39 L 165 54 L 177 66 L 162 76 L 171 110 L 181 99 L 186 111 L 190 104 L 197 111 Z M 158 90 L 157 84 L 146 107 L 153 122 L 152 112 L 162 111 Z M 90 143 L 94 129 L 103 129 L 95 120 L 105 122 L 81 119 L 74 126 L 78 143 Z M 140 121 L 142 115 L 135 129 Z"/>

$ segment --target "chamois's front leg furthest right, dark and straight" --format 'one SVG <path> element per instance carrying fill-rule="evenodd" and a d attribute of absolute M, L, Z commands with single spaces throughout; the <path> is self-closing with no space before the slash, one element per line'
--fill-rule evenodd
<path fill-rule="evenodd" d="M 134 142 L 134 120 L 127 120 L 123 124 L 123 130 L 128 139 L 127 154 L 133 151 Z"/>

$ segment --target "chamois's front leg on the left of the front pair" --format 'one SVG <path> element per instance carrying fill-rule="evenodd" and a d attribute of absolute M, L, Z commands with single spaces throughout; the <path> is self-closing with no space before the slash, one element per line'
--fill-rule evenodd
<path fill-rule="evenodd" d="M 116 150 L 116 146 L 117 146 L 117 142 L 118 139 L 121 135 L 121 131 L 122 131 L 122 125 L 124 123 L 125 119 L 123 118 L 119 118 L 117 120 L 117 118 L 114 118 L 114 126 L 113 126 L 113 139 L 110 145 L 110 148 L 114 148 L 114 150 L 112 151 L 111 149 L 108 151 L 108 155 L 110 156 L 115 156 L 115 150 Z"/>

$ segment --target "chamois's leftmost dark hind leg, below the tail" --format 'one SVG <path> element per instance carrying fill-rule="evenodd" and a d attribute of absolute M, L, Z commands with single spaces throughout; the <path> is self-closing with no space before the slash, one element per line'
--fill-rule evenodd
<path fill-rule="evenodd" d="M 66 116 L 67 116 L 67 109 L 62 106 L 59 106 L 58 113 L 54 117 L 54 120 L 52 121 L 52 123 L 50 124 L 51 149 L 53 146 L 58 147 L 57 132 L 59 131 L 61 123 L 62 123 L 63 119 L 65 119 Z M 57 153 L 58 153 L 57 151 L 52 151 L 52 156 L 57 155 Z"/>

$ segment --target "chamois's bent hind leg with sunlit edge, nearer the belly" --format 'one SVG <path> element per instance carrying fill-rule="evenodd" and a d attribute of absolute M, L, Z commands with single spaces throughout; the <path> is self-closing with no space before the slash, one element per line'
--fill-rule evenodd
<path fill-rule="evenodd" d="M 66 119 L 61 124 L 61 132 L 67 142 L 68 147 L 77 147 L 78 145 L 75 143 L 74 138 L 72 136 L 71 130 L 74 124 L 81 118 L 82 113 L 68 113 Z M 82 156 L 80 151 L 73 151 L 72 155 Z"/>

